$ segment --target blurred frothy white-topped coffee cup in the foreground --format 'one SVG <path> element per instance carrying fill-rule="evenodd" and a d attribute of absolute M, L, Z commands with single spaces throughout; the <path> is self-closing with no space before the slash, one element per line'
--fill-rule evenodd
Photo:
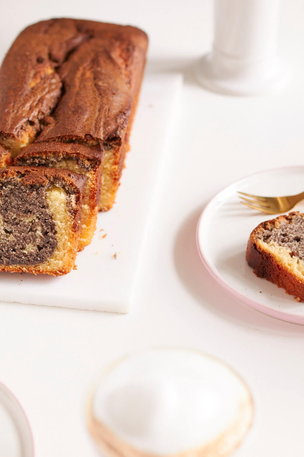
<path fill-rule="evenodd" d="M 226 456 L 241 442 L 237 455 L 246 455 L 254 409 L 247 384 L 224 361 L 154 348 L 103 372 L 88 397 L 87 423 L 102 455 Z"/>

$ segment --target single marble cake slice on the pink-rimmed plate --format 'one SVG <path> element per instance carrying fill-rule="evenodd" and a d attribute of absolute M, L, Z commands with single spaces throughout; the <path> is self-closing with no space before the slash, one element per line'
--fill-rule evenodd
<path fill-rule="evenodd" d="M 260 223 L 250 234 L 246 260 L 258 277 L 304 300 L 304 213 Z"/>

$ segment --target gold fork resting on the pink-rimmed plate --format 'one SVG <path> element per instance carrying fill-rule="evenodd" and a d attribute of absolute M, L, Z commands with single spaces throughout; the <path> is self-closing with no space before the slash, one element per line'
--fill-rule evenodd
<path fill-rule="evenodd" d="M 286 211 L 289 211 L 298 202 L 304 199 L 304 192 L 297 195 L 289 195 L 287 197 L 261 197 L 258 195 L 245 194 L 245 192 L 237 191 L 237 193 L 241 194 L 238 197 L 244 200 L 241 202 L 243 205 L 268 214 L 286 213 Z M 250 197 L 251 200 L 242 197 L 242 195 Z"/>

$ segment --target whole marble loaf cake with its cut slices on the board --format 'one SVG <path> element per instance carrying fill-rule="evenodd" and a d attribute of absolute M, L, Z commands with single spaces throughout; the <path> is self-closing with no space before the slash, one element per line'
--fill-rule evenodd
<path fill-rule="evenodd" d="M 138 28 L 78 19 L 15 39 L 0 67 L 0 271 L 66 274 L 90 244 L 119 186 L 147 46 Z"/>

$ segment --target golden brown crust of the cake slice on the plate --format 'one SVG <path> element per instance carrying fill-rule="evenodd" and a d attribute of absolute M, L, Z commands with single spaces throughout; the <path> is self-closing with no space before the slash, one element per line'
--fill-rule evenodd
<path fill-rule="evenodd" d="M 258 277 L 265 278 L 277 284 L 278 287 L 283 287 L 286 293 L 294 295 L 300 301 L 304 300 L 304 280 L 294 276 L 285 266 L 280 265 L 270 252 L 261 249 L 258 244 L 258 235 L 261 232 L 274 228 L 275 224 L 282 221 L 291 221 L 295 215 L 304 217 L 304 214 L 297 211 L 260 223 L 250 234 L 246 260 Z"/>

